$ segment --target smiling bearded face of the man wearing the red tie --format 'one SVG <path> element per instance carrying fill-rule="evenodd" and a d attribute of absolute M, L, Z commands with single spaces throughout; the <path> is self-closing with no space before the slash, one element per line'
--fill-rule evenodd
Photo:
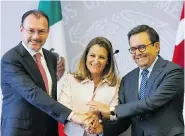
<path fill-rule="evenodd" d="M 46 42 L 48 36 L 48 22 L 43 16 L 39 18 L 28 15 L 20 26 L 24 44 L 33 51 L 38 51 Z M 35 33 L 34 33 L 35 32 Z"/>

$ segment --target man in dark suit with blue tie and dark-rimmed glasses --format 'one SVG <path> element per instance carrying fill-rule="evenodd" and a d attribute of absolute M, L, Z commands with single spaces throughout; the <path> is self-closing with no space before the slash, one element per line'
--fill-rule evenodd
<path fill-rule="evenodd" d="M 104 135 L 116 136 L 132 124 L 132 136 L 183 136 L 184 70 L 158 55 L 159 35 L 153 28 L 139 25 L 128 40 L 138 68 L 122 78 L 120 104 L 91 102 L 104 118 L 114 120 L 104 123 Z"/>

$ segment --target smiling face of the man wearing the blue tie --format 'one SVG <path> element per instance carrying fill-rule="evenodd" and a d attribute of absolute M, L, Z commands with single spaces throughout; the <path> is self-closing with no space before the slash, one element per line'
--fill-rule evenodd
<path fill-rule="evenodd" d="M 150 38 L 146 32 L 141 32 L 138 34 L 134 34 L 130 37 L 130 47 L 138 47 L 139 45 L 148 45 L 151 43 Z M 144 52 L 140 52 L 138 49 L 136 53 L 132 54 L 132 58 L 135 63 L 141 69 L 148 69 L 152 63 L 154 62 L 155 58 L 158 55 L 160 50 L 159 42 L 155 42 L 154 44 L 148 45 Z"/>

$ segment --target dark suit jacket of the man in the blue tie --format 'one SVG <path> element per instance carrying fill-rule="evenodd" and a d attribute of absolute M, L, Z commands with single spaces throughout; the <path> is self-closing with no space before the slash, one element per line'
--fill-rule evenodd
<path fill-rule="evenodd" d="M 150 74 L 144 100 L 138 97 L 138 80 L 139 68 L 122 78 L 120 105 L 117 107 L 117 117 L 122 125 L 115 122 L 117 125 L 114 127 L 117 127 L 110 136 L 118 135 L 130 125 L 128 120 L 124 125 L 123 119 L 126 118 L 130 118 L 132 136 L 174 136 L 184 133 L 184 70 L 159 56 Z"/>

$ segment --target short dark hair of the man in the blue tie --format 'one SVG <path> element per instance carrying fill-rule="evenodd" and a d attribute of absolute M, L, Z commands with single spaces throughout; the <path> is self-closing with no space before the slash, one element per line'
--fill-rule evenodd
<path fill-rule="evenodd" d="M 141 32 L 146 32 L 150 38 L 150 41 L 152 43 L 159 42 L 159 35 L 158 33 L 150 26 L 148 25 L 138 25 L 134 27 L 128 34 L 128 40 L 130 40 L 130 37 L 132 35 L 141 33 Z"/>

